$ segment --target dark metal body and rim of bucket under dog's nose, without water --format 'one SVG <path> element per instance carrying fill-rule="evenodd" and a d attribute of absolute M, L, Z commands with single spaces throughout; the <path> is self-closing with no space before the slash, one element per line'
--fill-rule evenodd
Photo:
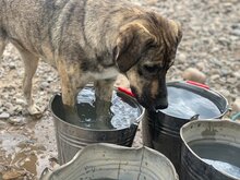
<path fill-rule="evenodd" d="M 220 116 L 211 119 L 219 119 L 228 111 L 227 99 L 217 92 L 206 89 L 187 82 L 170 82 L 167 87 L 178 87 L 191 91 L 212 100 L 220 110 Z M 181 139 L 180 129 L 190 119 L 183 119 L 167 115 L 163 111 L 148 111 L 142 122 L 144 145 L 159 151 L 175 165 L 181 178 Z"/>

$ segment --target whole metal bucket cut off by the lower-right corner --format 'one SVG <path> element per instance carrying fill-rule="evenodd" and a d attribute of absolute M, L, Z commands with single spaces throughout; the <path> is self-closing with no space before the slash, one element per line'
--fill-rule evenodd
<path fill-rule="evenodd" d="M 184 124 L 180 130 L 183 142 L 181 153 L 182 179 L 240 179 L 239 130 L 239 123 L 227 120 L 199 120 Z M 221 165 L 221 161 L 225 163 Z M 226 163 L 235 164 L 238 167 L 238 171 L 231 169 L 232 166 Z M 237 171 L 238 177 L 233 177 L 233 173 L 228 171 Z"/>

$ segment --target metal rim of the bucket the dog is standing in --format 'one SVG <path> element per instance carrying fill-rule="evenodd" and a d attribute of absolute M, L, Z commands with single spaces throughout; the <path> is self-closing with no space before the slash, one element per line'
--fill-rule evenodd
<path fill-rule="evenodd" d="M 87 85 L 89 86 L 89 85 Z M 69 123 L 64 120 L 62 120 L 61 118 L 59 118 L 52 110 L 52 103 L 53 100 L 59 96 L 61 98 L 61 93 L 55 93 L 53 96 L 51 97 L 50 101 L 49 101 L 49 109 L 51 111 L 51 115 L 53 116 L 55 119 L 58 119 L 59 121 L 61 121 L 61 123 L 64 123 L 69 127 L 73 127 L 73 128 L 77 128 L 82 131 L 87 131 L 87 132 L 120 132 L 120 131 L 124 131 L 124 130 L 128 130 L 128 129 L 131 129 L 131 128 L 137 128 L 139 127 L 139 123 L 140 121 L 143 119 L 144 117 L 144 113 L 145 113 L 145 108 L 142 107 L 134 97 L 130 96 L 130 95 L 127 95 L 118 89 L 113 89 L 113 92 L 117 92 L 119 94 L 122 94 L 124 96 L 127 96 L 128 98 L 130 98 L 131 100 L 134 100 L 135 105 L 137 106 L 137 108 L 141 110 L 141 115 L 134 120 L 134 123 L 132 123 L 130 127 L 125 127 L 125 128 L 120 128 L 120 129 L 107 129 L 107 130 L 98 130 L 98 129 L 87 129 L 87 128 L 82 128 L 82 127 L 79 127 L 79 125 L 75 125 L 75 124 L 72 124 L 72 123 Z"/>

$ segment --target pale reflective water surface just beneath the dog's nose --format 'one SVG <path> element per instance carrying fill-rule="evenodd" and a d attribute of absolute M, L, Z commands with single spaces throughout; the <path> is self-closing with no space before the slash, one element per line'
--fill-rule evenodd
<path fill-rule="evenodd" d="M 218 107 L 196 93 L 184 88 L 168 86 L 168 108 L 160 110 L 166 115 L 182 119 L 191 119 L 199 116 L 199 119 L 208 119 L 221 115 Z"/>

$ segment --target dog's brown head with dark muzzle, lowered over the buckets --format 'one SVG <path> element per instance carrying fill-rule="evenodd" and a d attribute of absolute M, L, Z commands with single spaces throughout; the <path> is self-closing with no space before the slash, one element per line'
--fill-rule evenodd
<path fill-rule="evenodd" d="M 178 23 L 155 13 L 121 27 L 113 49 L 115 61 L 145 108 L 167 108 L 166 73 L 181 36 Z"/>

